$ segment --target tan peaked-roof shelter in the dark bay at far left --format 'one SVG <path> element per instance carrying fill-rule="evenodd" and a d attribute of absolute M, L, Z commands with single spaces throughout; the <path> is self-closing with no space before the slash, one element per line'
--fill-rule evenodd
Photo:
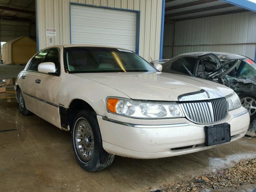
<path fill-rule="evenodd" d="M 4 64 L 26 64 L 36 53 L 36 42 L 29 37 L 21 36 L 6 42 L 2 48 Z"/>

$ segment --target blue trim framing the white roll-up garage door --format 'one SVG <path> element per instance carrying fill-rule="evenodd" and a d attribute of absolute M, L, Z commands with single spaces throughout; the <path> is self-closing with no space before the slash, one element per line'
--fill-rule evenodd
<path fill-rule="evenodd" d="M 71 5 L 82 5 L 82 6 L 90 6 L 90 7 L 96 7 L 96 8 L 106 8 L 106 9 L 112 9 L 112 10 L 121 10 L 121 11 L 130 11 L 130 12 L 136 12 L 136 50 L 135 52 L 139 54 L 139 46 L 140 46 L 140 10 L 131 10 L 131 9 L 122 9 L 122 8 L 114 8 L 114 7 L 107 7 L 107 6 L 97 6 L 97 5 L 91 5 L 91 4 L 83 4 L 83 3 L 69 3 L 69 26 L 70 26 L 70 44 L 71 44 Z"/>

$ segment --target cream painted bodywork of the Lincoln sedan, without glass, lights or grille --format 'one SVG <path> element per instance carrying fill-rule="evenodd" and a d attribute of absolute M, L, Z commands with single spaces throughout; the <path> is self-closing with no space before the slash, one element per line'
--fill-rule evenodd
<path fill-rule="evenodd" d="M 74 46 L 74 45 L 73 45 Z M 84 45 L 89 46 L 89 45 Z M 205 141 L 204 124 L 195 124 L 186 118 L 139 119 L 109 113 L 106 110 L 106 98 L 109 96 L 132 98 L 140 100 L 177 101 L 178 96 L 201 89 L 219 92 L 228 96 L 232 89 L 200 78 L 189 78 L 162 72 L 111 72 L 111 73 L 80 73 L 68 74 L 64 70 L 63 46 L 60 48 L 60 76 L 52 76 L 39 72 L 20 72 L 15 85 L 23 92 L 69 108 L 74 99 L 87 102 L 97 114 L 103 148 L 120 156 L 133 158 L 162 158 L 206 150 L 211 147 L 203 146 Z M 26 76 L 22 79 L 22 76 Z M 41 83 L 36 84 L 35 80 Z M 23 94 L 26 95 L 26 94 Z M 62 128 L 59 108 L 39 101 L 30 96 L 24 97 L 26 107 L 37 116 Z M 219 123 L 229 123 L 232 141 L 242 138 L 250 123 L 250 116 L 243 107 L 231 110 L 228 116 Z M 241 116 L 236 117 L 237 114 Z M 103 120 L 107 117 L 120 122 L 145 125 L 143 128 L 120 125 Z M 175 125 L 186 123 L 187 125 Z M 216 124 L 216 123 L 215 123 Z M 154 127 L 154 125 L 168 125 Z M 169 126 L 170 125 L 170 126 Z M 183 150 L 170 150 L 184 146 L 198 145 Z"/>

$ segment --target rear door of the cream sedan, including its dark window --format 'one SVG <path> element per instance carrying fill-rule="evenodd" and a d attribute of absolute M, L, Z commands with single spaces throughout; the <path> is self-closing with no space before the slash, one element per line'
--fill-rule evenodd
<path fill-rule="evenodd" d="M 22 75 L 22 79 L 20 80 L 20 87 L 22 88 L 23 97 L 26 103 L 26 108 L 31 112 L 36 114 L 36 102 L 37 99 L 35 97 L 35 86 L 36 79 L 38 76 L 38 64 L 42 62 L 44 57 L 46 56 L 48 50 L 44 50 L 39 52 L 34 58 L 32 58 L 28 69 Z"/>

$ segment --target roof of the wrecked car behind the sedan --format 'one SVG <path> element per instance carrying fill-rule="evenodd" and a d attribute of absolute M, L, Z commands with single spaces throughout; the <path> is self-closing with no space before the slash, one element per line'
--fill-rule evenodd
<path fill-rule="evenodd" d="M 225 52 L 191 52 L 191 53 L 184 53 L 180 54 L 180 56 L 192 56 L 192 57 L 199 57 L 206 54 L 214 54 L 220 60 L 227 60 L 227 59 L 245 59 L 245 56 L 234 54 L 234 53 L 225 53 Z"/>

